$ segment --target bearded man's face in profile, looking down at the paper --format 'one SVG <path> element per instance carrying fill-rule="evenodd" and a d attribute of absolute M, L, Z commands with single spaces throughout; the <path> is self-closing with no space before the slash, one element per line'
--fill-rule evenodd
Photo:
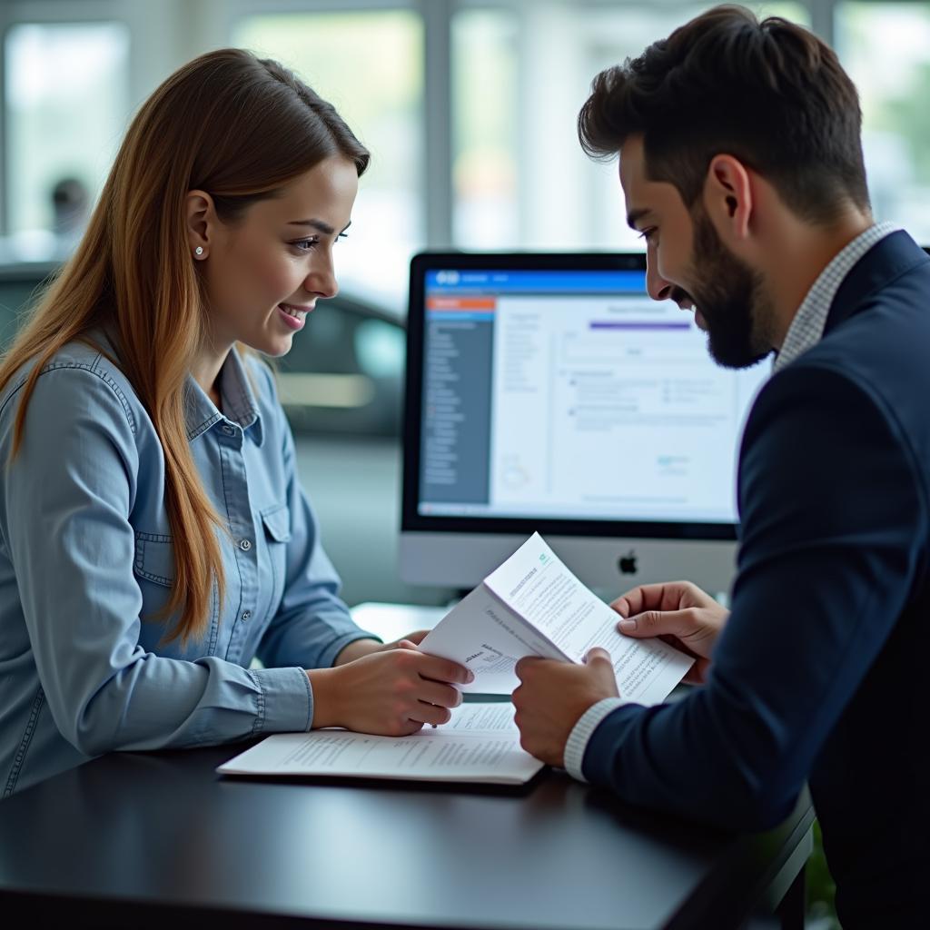
<path fill-rule="evenodd" d="M 627 220 L 645 240 L 649 296 L 693 309 L 718 365 L 746 368 L 771 352 L 761 274 L 724 246 L 699 200 L 689 212 L 673 184 L 646 178 L 642 137 L 620 149 L 620 183 Z"/>

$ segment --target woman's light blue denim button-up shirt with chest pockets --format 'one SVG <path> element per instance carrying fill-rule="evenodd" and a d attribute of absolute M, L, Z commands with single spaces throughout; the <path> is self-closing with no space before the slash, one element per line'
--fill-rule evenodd
<path fill-rule="evenodd" d="M 113 750 L 310 729 L 303 670 L 371 634 L 339 600 L 268 368 L 231 352 L 222 413 L 188 379 L 193 458 L 229 536 L 223 603 L 214 589 L 205 639 L 184 647 L 161 644 L 173 618 L 152 619 L 174 563 L 151 419 L 74 343 L 36 381 L 7 467 L 31 367 L 0 394 L 0 796 Z"/>

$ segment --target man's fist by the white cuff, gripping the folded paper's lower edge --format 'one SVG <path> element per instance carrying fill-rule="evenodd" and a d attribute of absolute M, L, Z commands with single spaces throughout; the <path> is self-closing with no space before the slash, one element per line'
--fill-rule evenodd
<path fill-rule="evenodd" d="M 565 743 L 581 715 L 604 697 L 618 697 L 610 656 L 595 647 L 584 665 L 522 658 L 516 672 L 521 684 L 513 692 L 513 720 L 520 745 L 542 762 L 563 767 Z"/>

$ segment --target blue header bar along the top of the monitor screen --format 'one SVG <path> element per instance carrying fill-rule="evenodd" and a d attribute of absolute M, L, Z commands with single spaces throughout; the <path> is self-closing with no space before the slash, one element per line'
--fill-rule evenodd
<path fill-rule="evenodd" d="M 464 294 L 475 291 L 494 293 L 576 292 L 597 294 L 643 294 L 645 272 L 635 271 L 533 271 L 499 270 L 462 271 L 450 268 L 426 272 L 426 289 L 443 294 Z"/>

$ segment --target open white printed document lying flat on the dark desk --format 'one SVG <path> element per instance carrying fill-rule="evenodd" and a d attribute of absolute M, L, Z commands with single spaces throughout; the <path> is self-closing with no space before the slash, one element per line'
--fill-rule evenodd
<path fill-rule="evenodd" d="M 522 785 L 542 763 L 520 748 L 511 704 L 463 704 L 409 737 L 348 730 L 278 733 L 219 766 L 220 775 L 400 778 Z"/>

